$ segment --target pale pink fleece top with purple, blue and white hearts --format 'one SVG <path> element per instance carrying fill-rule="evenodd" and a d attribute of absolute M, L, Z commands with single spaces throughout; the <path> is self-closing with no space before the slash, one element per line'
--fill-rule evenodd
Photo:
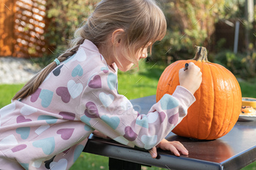
<path fill-rule="evenodd" d="M 108 66 L 96 45 L 85 40 L 31 96 L 0 109 L 0 169 L 69 169 L 94 129 L 149 150 L 195 101 L 178 86 L 142 114 L 118 94 L 117 84 L 116 64 Z"/>

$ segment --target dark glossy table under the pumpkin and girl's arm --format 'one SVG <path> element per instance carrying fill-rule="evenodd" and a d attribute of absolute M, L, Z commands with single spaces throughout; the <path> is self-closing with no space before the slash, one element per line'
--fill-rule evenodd
<path fill-rule="evenodd" d="M 146 114 L 156 102 L 155 98 L 148 96 L 131 102 L 138 112 Z M 189 150 L 189 155 L 176 157 L 168 151 L 158 150 L 158 158 L 154 159 L 146 150 L 127 147 L 93 135 L 83 152 L 109 157 L 111 170 L 137 170 L 141 165 L 177 170 L 236 170 L 256 161 L 256 121 L 238 121 L 228 134 L 212 141 L 188 139 L 172 132 L 165 139 L 181 142 Z"/>

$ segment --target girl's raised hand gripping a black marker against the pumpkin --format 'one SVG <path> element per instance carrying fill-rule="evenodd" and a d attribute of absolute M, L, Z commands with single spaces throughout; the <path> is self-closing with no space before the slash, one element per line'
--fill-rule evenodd
<path fill-rule="evenodd" d="M 200 88 L 202 82 L 202 72 L 200 68 L 195 66 L 195 63 L 190 62 L 189 67 L 186 71 L 184 68 L 180 69 L 178 72 L 180 85 L 187 88 L 192 94 Z"/>

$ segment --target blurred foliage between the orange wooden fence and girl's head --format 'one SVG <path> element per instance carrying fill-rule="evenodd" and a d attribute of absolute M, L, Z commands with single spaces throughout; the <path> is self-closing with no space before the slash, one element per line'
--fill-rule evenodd
<path fill-rule="evenodd" d="M 42 58 L 33 60 L 41 66 L 46 66 L 57 55 L 64 53 L 69 40 L 73 39 L 75 30 L 83 26 L 97 2 L 99 0 L 48 0 L 44 36 L 48 41 L 48 48 L 53 53 L 45 53 Z"/>

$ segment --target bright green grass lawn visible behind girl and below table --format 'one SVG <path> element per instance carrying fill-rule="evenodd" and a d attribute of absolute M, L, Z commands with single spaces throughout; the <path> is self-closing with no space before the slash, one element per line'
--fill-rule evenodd
<path fill-rule="evenodd" d="M 157 89 L 157 82 L 164 69 L 164 66 L 159 66 L 155 63 L 142 63 L 140 72 L 119 72 L 118 92 L 129 99 L 154 95 Z M 254 90 L 256 79 L 239 83 L 244 97 L 256 98 L 256 90 Z M 10 104 L 11 98 L 22 87 L 23 85 L 0 85 L 0 108 Z M 83 152 L 70 170 L 82 169 L 108 169 L 108 158 Z M 157 170 L 160 168 L 142 166 L 142 169 Z M 256 170 L 256 162 L 251 163 L 242 170 Z"/>

